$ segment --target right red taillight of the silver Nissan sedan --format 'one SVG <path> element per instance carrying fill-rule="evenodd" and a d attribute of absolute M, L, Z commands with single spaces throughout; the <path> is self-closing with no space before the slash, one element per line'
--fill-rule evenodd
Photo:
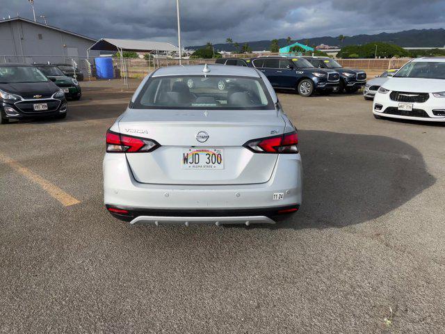
<path fill-rule="evenodd" d="M 253 139 L 243 146 L 255 153 L 298 153 L 298 134 L 294 131 L 280 136 Z"/>

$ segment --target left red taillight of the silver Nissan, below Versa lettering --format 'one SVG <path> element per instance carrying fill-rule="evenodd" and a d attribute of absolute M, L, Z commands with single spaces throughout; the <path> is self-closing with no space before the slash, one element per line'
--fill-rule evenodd
<path fill-rule="evenodd" d="M 106 152 L 109 153 L 152 152 L 159 146 L 152 139 L 127 136 L 110 130 L 106 132 Z"/>

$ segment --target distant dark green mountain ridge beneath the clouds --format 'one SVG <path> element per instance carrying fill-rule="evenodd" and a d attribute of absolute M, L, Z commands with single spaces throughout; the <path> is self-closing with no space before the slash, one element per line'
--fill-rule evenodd
<path fill-rule="evenodd" d="M 234 41 L 235 42 L 235 41 Z M 305 45 L 331 45 L 343 47 L 345 45 L 363 45 L 369 42 L 387 42 L 399 45 L 401 47 L 444 47 L 445 46 L 445 29 L 421 29 L 407 30 L 398 33 L 378 33 L 376 35 L 355 35 L 346 36 L 341 42 L 337 37 L 316 37 L 301 38 L 292 40 L 292 43 L 300 42 Z M 271 40 L 256 40 L 249 42 L 238 42 L 241 47 L 244 43 L 248 43 L 253 51 L 262 51 L 270 49 Z M 286 38 L 278 39 L 278 45 L 284 47 L 288 45 Z M 195 45 L 186 47 L 186 49 L 201 49 L 205 45 Z M 214 44 L 213 47 L 218 51 L 235 51 L 235 47 L 231 43 Z"/>

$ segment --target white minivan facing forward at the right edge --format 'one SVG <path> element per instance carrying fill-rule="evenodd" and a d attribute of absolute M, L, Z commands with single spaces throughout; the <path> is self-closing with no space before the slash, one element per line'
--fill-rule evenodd
<path fill-rule="evenodd" d="M 445 57 L 417 58 L 375 94 L 375 118 L 445 122 Z"/>

